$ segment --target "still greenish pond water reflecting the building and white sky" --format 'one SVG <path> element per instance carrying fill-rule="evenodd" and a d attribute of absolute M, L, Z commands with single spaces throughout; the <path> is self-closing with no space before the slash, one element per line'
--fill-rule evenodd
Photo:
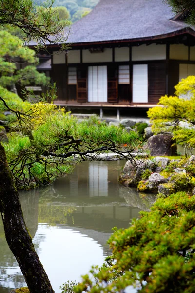
<path fill-rule="evenodd" d="M 26 224 L 56 293 L 67 280 L 80 280 L 111 253 L 106 241 L 114 226 L 128 227 L 154 196 L 117 183 L 124 161 L 83 162 L 52 185 L 20 192 Z M 0 293 L 25 286 L 0 220 Z"/>

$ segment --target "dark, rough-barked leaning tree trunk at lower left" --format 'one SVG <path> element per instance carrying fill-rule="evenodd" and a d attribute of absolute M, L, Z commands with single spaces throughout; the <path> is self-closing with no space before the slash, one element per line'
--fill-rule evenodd
<path fill-rule="evenodd" d="M 54 293 L 24 222 L 20 199 L 0 144 L 0 212 L 7 243 L 31 293 Z"/>

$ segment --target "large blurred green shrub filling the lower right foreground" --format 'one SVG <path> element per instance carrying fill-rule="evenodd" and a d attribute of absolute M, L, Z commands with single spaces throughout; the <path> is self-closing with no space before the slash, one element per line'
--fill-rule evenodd
<path fill-rule="evenodd" d="M 91 293 L 121 292 L 131 285 L 140 293 L 194 292 L 195 197 L 172 194 L 140 214 L 128 229 L 111 236 L 113 254 L 90 271 L 95 281 L 83 276 L 74 292 L 86 286 Z"/>

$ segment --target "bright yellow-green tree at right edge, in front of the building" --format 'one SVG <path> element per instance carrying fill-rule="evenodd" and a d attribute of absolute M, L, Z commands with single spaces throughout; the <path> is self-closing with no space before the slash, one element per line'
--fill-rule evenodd
<path fill-rule="evenodd" d="M 148 111 L 153 132 L 173 132 L 173 139 L 185 153 L 195 148 L 195 77 L 188 76 L 176 86 L 176 96 L 161 97 L 157 107 Z M 184 127 L 181 127 L 184 122 Z"/>

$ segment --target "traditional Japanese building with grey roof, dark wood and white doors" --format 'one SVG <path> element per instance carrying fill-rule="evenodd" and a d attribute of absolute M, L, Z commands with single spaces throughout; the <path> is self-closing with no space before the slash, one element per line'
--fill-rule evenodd
<path fill-rule="evenodd" d="M 57 105 L 155 106 L 195 75 L 195 31 L 163 0 L 100 0 L 71 27 L 71 50 L 50 45 Z"/>

